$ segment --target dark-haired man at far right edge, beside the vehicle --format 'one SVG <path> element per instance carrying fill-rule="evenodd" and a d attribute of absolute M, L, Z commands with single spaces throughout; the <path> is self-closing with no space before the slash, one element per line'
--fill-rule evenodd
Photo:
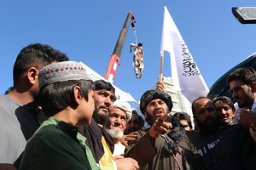
<path fill-rule="evenodd" d="M 256 71 L 253 68 L 239 68 L 228 76 L 232 96 L 236 99 L 234 123 L 249 127 L 256 141 Z"/>

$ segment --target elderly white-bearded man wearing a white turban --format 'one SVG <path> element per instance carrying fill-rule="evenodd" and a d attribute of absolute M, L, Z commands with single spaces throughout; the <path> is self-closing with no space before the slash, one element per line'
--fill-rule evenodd
<path fill-rule="evenodd" d="M 125 141 L 123 135 L 127 122 L 131 119 L 131 105 L 126 101 L 115 101 L 111 109 L 105 130 L 112 137 L 114 142 L 113 156 L 124 156 Z"/>

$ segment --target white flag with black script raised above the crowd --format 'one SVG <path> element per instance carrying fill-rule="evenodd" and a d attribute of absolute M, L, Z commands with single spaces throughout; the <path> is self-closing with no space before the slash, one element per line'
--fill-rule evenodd
<path fill-rule="evenodd" d="M 191 103 L 198 97 L 207 96 L 209 92 L 207 84 L 197 65 L 195 65 L 195 60 L 177 30 L 177 26 L 166 6 L 160 47 L 162 57 L 164 51 L 171 55 L 172 79 L 175 88 L 181 90 L 182 94 Z"/>

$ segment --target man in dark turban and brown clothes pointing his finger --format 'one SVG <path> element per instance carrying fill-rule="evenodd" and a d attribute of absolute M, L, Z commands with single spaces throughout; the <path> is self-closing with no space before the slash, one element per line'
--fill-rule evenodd
<path fill-rule="evenodd" d="M 146 91 L 140 100 L 140 110 L 151 127 L 138 131 L 137 139 L 125 153 L 138 161 L 140 169 L 204 169 L 201 156 L 196 153 L 184 128 L 171 119 L 169 94 L 162 90 Z"/>

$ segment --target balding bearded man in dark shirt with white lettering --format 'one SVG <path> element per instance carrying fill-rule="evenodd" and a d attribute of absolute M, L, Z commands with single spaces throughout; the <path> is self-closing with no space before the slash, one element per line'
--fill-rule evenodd
<path fill-rule="evenodd" d="M 256 144 L 239 125 L 221 123 L 211 99 L 201 97 L 192 103 L 199 132 L 188 132 L 189 139 L 210 170 L 241 170 L 256 167 Z"/>

